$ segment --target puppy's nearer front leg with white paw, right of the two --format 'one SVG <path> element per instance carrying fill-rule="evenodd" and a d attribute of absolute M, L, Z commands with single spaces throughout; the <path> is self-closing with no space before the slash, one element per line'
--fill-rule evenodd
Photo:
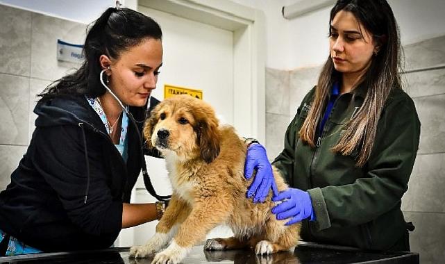
<path fill-rule="evenodd" d="M 167 249 L 160 251 L 153 258 L 153 263 L 180 263 L 197 242 L 218 224 L 226 221 L 230 212 L 221 206 L 227 204 L 223 199 L 206 198 L 196 202 L 192 212 L 180 225 L 178 233 Z"/>

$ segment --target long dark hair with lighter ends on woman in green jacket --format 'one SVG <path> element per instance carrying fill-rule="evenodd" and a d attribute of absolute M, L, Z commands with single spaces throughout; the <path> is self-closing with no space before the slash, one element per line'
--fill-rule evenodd
<path fill-rule="evenodd" d="M 400 37 L 396 19 L 386 0 L 339 0 L 330 10 L 331 23 L 340 10 L 351 12 L 356 19 L 371 33 L 373 40 L 380 47 L 371 59 L 371 65 L 358 83 L 367 87 L 367 95 L 358 113 L 346 124 L 346 131 L 339 139 L 333 151 L 350 155 L 357 151 L 357 165 L 363 166 L 373 148 L 378 119 L 383 106 L 393 88 L 401 88 L 398 70 L 401 69 Z M 330 24 L 329 24 L 330 28 Z M 333 83 L 339 81 L 341 72 L 337 72 L 333 61 L 328 57 L 321 70 L 315 99 L 308 118 L 303 123 L 299 135 L 303 142 L 314 146 L 316 128 L 328 94 Z"/>

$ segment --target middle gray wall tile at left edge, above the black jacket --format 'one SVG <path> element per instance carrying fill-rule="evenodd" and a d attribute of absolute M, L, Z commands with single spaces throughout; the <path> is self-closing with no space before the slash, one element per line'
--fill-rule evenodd
<path fill-rule="evenodd" d="M 0 144 L 27 145 L 29 78 L 0 74 Z"/>

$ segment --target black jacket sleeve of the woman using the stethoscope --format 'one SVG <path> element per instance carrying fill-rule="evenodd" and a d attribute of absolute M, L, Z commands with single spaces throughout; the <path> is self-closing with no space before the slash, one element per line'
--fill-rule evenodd
<path fill-rule="evenodd" d="M 32 155 L 33 163 L 58 195 L 69 220 L 85 233 L 95 236 L 115 233 L 117 236 L 121 230 L 122 201 L 113 200 L 106 183 L 104 154 L 100 147 L 103 141 L 94 138 L 99 135 L 91 131 L 85 133 L 90 165 L 88 190 L 85 147 L 78 126 L 37 128 L 33 136 L 39 147 Z"/>

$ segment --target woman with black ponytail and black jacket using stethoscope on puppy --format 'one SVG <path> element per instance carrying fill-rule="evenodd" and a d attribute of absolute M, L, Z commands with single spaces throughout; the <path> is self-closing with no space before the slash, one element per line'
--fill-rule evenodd
<path fill-rule="evenodd" d="M 162 215 L 163 204 L 129 204 L 161 40 L 150 17 L 108 8 L 87 33 L 80 69 L 40 94 L 31 143 L 0 193 L 1 256 L 104 249 L 121 229 Z"/>

